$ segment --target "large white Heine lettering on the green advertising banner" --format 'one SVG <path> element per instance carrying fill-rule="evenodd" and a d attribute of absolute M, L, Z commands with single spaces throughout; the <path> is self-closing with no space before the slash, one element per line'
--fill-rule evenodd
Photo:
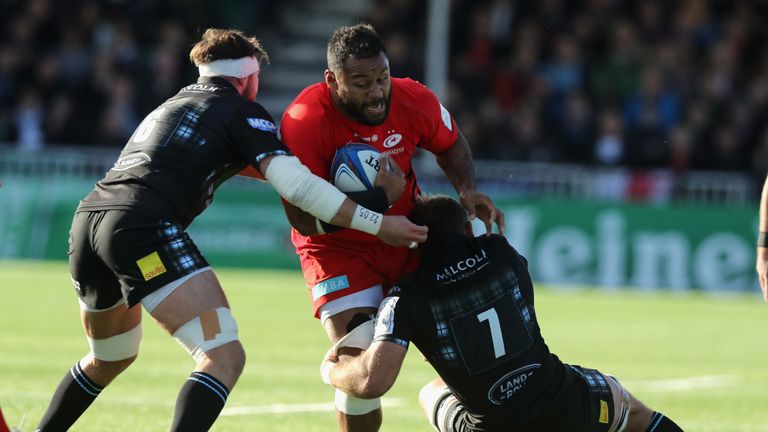
<path fill-rule="evenodd" d="M 541 216 L 531 207 L 508 208 L 505 215 L 518 227 L 508 235 L 510 244 L 530 258 L 537 281 L 759 292 L 754 248 L 736 233 L 715 231 L 693 245 L 683 228 L 631 230 L 616 209 L 598 212 L 593 230 L 566 224 L 542 230 Z"/>

